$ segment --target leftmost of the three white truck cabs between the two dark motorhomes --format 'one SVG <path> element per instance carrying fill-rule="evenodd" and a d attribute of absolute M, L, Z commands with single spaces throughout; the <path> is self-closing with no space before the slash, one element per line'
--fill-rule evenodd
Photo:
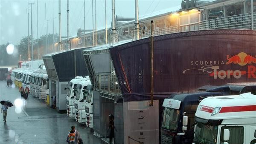
<path fill-rule="evenodd" d="M 67 103 L 67 116 L 69 117 L 74 117 L 76 116 L 76 109 L 74 106 L 74 90 L 76 88 L 76 85 L 79 84 L 80 81 L 82 81 L 83 76 L 76 76 L 75 79 L 71 79 L 70 82 L 68 82 L 67 84 L 67 88 L 65 88 L 65 90 L 67 90 L 67 98 L 66 98 L 66 103 Z"/>

